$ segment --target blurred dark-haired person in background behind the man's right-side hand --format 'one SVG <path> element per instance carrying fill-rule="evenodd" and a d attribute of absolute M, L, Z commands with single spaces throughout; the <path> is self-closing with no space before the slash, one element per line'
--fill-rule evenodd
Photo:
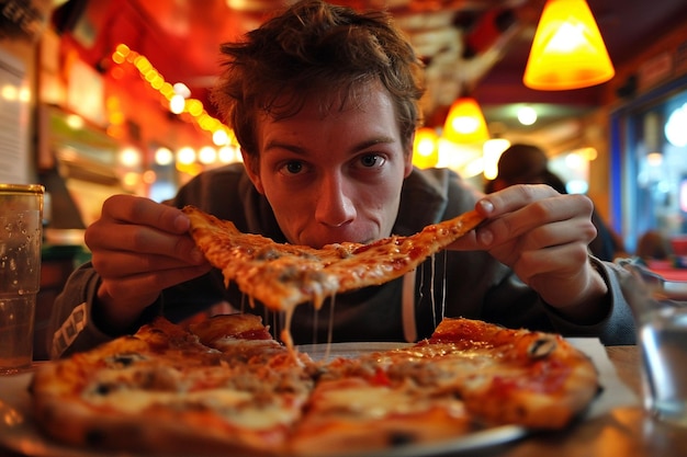
<path fill-rule="evenodd" d="M 549 170 L 549 158 L 539 147 L 514 144 L 498 159 L 498 175 L 486 183 L 486 193 L 502 191 L 515 184 L 548 184 L 561 194 L 567 194 L 565 183 Z M 612 261 L 622 250 L 616 233 L 606 226 L 599 214 L 592 214 L 597 236 L 589 243 L 589 251 L 600 260 Z"/>

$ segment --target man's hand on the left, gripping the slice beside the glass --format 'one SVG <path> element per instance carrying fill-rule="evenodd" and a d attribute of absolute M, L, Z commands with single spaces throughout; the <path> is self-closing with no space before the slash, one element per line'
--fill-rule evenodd
<path fill-rule="evenodd" d="M 88 227 L 86 244 L 101 277 L 94 311 L 111 332 L 131 327 L 161 290 L 212 266 L 188 233 L 178 208 L 133 195 L 114 195 Z M 105 329 L 103 329 L 105 330 Z"/>

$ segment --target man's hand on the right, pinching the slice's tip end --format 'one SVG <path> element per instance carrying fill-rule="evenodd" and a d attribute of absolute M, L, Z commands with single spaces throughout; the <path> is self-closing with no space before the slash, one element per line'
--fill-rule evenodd
<path fill-rule="evenodd" d="M 487 220 L 450 248 L 486 250 L 550 306 L 578 321 L 604 316 L 607 286 L 589 262 L 594 204 L 548 185 L 514 185 L 477 202 Z"/>

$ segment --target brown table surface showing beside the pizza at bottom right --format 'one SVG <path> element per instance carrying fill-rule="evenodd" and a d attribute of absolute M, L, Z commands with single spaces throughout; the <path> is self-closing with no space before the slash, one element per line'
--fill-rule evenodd
<path fill-rule="evenodd" d="M 641 392 L 637 346 L 608 346 L 618 377 L 638 396 Z M 459 454 L 465 457 L 465 454 Z M 18 457 L 0 448 L 0 456 Z M 586 419 L 561 432 L 527 436 L 515 443 L 470 452 L 470 457 L 669 457 L 687 456 L 687 429 L 660 423 L 640 405 L 621 407 Z M 441 455 L 437 457 L 448 457 Z"/>

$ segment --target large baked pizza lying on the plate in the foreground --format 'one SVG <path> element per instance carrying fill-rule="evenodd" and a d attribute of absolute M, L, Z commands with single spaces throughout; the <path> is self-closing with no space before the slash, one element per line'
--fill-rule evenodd
<path fill-rule="evenodd" d="M 237 456 L 350 455 L 441 443 L 504 424 L 565 427 L 599 388 L 560 335 L 444 318 L 414 344 L 314 359 L 254 315 L 157 318 L 41 365 L 34 416 L 88 449 Z"/>

